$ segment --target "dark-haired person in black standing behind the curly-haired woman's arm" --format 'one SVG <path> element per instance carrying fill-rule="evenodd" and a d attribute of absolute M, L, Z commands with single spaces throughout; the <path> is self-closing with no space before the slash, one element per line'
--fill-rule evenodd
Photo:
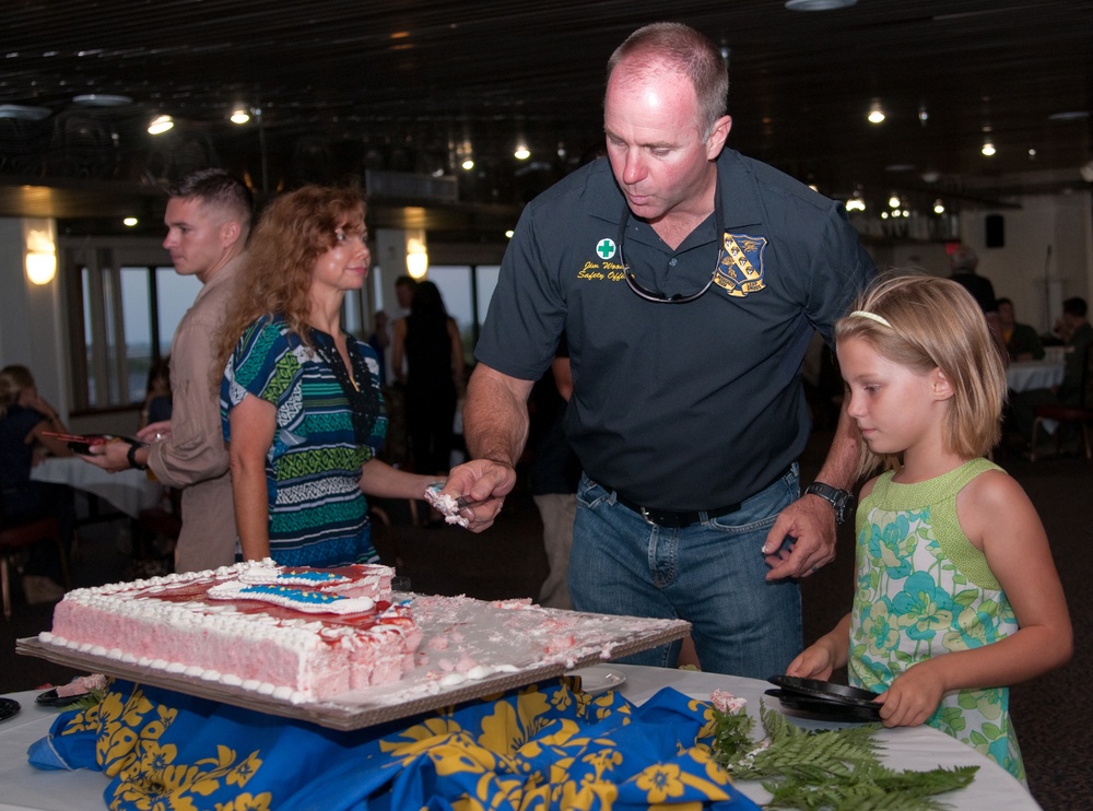
<path fill-rule="evenodd" d="M 463 345 L 456 319 L 448 315 L 433 282 L 418 282 L 410 315 L 395 322 L 391 365 L 406 391 L 413 469 L 444 473 L 451 467 L 456 403 L 463 388 Z"/>

